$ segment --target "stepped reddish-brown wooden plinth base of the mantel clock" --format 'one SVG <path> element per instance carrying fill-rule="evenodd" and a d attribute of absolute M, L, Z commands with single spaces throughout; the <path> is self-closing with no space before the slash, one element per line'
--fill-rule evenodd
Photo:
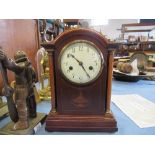
<path fill-rule="evenodd" d="M 60 115 L 50 113 L 46 119 L 47 131 L 115 132 L 117 123 L 113 115 Z"/>

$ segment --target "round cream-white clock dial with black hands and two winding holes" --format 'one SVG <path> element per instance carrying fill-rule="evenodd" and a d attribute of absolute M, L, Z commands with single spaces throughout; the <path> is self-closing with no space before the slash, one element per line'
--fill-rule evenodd
<path fill-rule="evenodd" d="M 85 84 L 100 75 L 104 59 L 93 43 L 77 40 L 62 49 L 59 61 L 61 72 L 69 81 Z"/>

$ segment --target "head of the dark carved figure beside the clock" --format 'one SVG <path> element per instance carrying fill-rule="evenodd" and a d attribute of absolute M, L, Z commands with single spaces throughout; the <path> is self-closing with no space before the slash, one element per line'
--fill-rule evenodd
<path fill-rule="evenodd" d="M 27 56 L 24 51 L 17 51 L 14 55 L 14 59 L 16 63 L 27 61 Z"/>

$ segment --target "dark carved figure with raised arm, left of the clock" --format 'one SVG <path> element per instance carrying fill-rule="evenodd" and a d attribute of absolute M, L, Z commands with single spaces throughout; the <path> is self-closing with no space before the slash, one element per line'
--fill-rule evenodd
<path fill-rule="evenodd" d="M 7 58 L 4 52 L 0 50 L 2 66 L 15 73 L 15 106 L 13 106 L 14 109 L 11 114 L 14 113 L 13 116 L 17 115 L 18 117 L 13 119 L 15 122 L 13 130 L 22 130 L 29 127 L 29 117 L 36 117 L 36 101 L 33 91 L 33 82 L 36 77 L 25 52 L 17 51 L 14 58 L 15 61 Z M 7 78 L 6 74 L 5 76 L 4 78 Z M 10 87 L 9 89 L 6 88 L 5 91 L 5 95 L 9 96 Z M 14 105 L 10 100 L 8 102 L 9 105 Z"/>

